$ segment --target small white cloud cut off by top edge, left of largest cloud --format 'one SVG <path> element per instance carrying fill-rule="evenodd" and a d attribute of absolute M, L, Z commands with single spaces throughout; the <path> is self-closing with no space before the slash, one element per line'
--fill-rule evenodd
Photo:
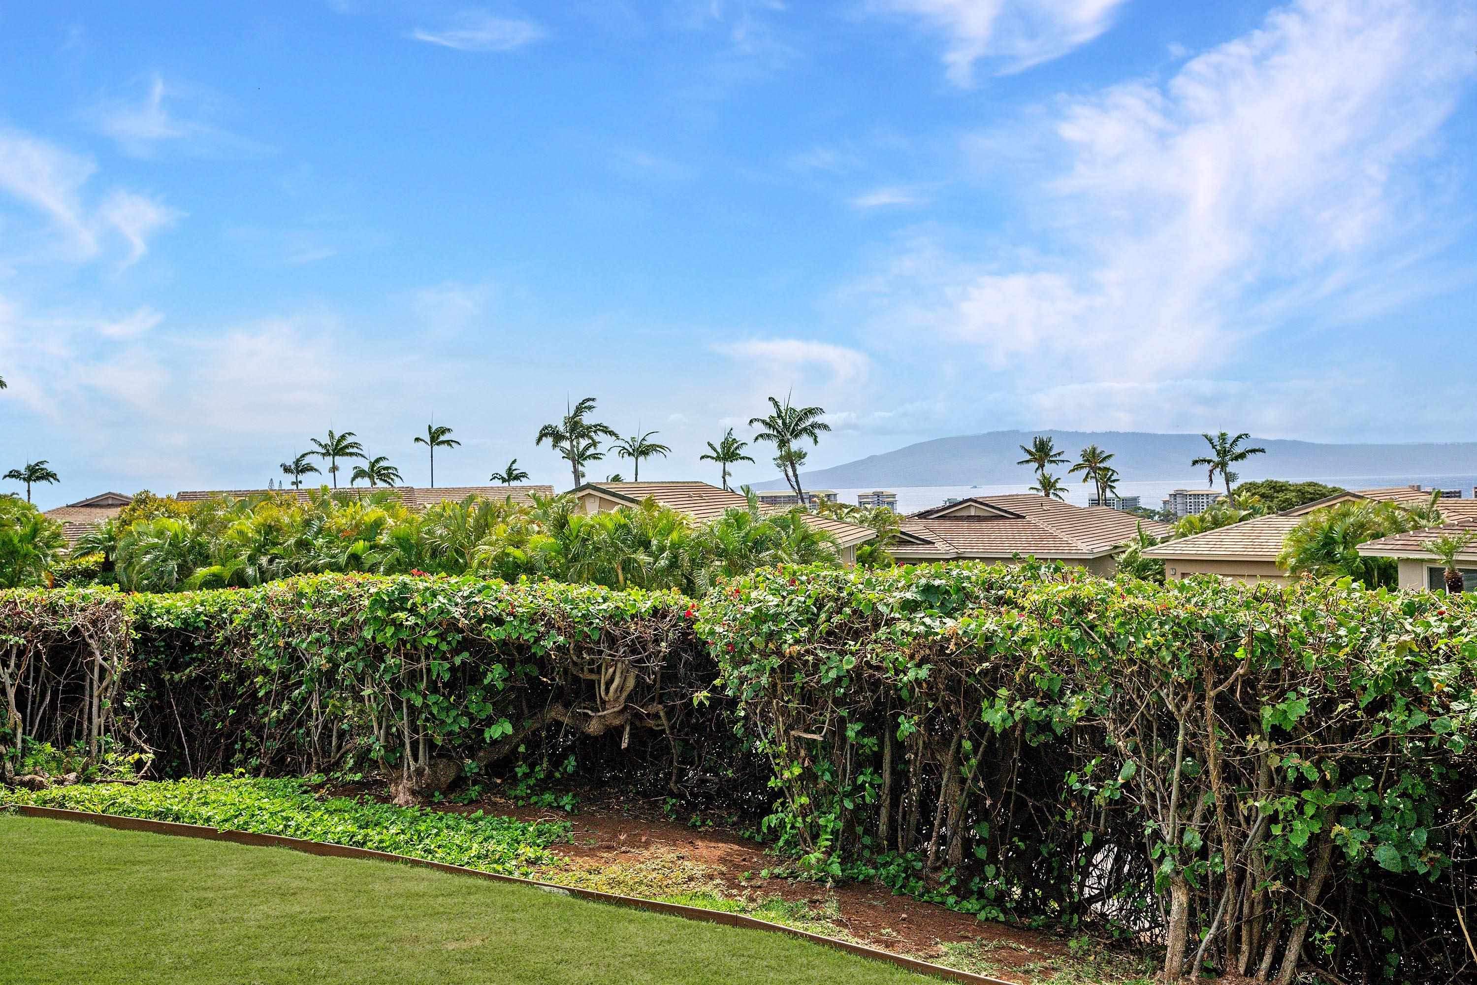
<path fill-rule="evenodd" d="M 882 13 L 910 15 L 947 37 L 944 65 L 956 86 L 975 81 L 975 65 L 1018 72 L 1092 41 L 1124 0 L 873 0 Z"/>

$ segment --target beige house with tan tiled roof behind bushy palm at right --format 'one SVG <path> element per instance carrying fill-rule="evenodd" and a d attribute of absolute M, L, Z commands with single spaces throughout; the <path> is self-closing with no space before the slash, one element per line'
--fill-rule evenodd
<path fill-rule="evenodd" d="M 1220 574 L 1242 582 L 1291 582 L 1292 577 L 1278 567 L 1278 554 L 1282 552 L 1282 542 L 1292 527 L 1303 523 L 1315 509 L 1360 499 L 1416 507 L 1430 502 L 1431 492 L 1422 492 L 1418 486 L 1394 486 L 1337 493 L 1285 512 L 1159 543 L 1143 554 L 1162 560 L 1164 576 L 1168 579 Z M 1477 499 L 1443 499 L 1440 508 L 1449 518 L 1477 517 Z"/>

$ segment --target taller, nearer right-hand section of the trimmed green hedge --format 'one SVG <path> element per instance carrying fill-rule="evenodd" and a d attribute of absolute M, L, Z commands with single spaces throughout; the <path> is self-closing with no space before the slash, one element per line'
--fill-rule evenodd
<path fill-rule="evenodd" d="M 770 830 L 991 916 L 1291 981 L 1450 976 L 1477 890 L 1477 608 L 1347 585 L 764 572 L 710 595 Z M 925 579 L 923 585 L 928 585 Z"/>

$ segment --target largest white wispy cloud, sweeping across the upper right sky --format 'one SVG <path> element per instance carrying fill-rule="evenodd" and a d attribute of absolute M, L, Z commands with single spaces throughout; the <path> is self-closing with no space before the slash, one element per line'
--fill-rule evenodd
<path fill-rule="evenodd" d="M 1371 282 L 1449 285 L 1422 250 L 1471 210 L 1430 155 L 1471 87 L 1477 18 L 1439 7 L 1306 0 L 1164 81 L 1060 100 L 1044 139 L 1018 134 L 1040 152 L 1019 176 L 1032 251 L 916 236 L 868 300 L 889 334 L 972 343 L 1018 381 L 1152 387 L 1288 322 L 1357 319 Z"/>

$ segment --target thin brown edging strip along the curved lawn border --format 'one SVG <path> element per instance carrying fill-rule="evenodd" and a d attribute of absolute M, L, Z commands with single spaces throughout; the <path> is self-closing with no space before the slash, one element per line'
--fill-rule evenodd
<path fill-rule="evenodd" d="M 874 961 L 883 961 L 886 964 L 895 964 L 910 972 L 917 972 L 919 975 L 929 975 L 932 978 L 939 978 L 950 982 L 973 982 L 975 985 L 1016 985 L 1015 982 L 1007 982 L 1000 978 L 990 978 L 988 975 L 973 975 L 970 972 L 960 972 L 953 967 L 944 967 L 942 964 L 932 964 L 931 961 L 922 961 L 919 958 L 907 957 L 902 954 L 894 954 L 892 951 L 882 951 L 877 948 L 870 948 L 864 944 L 852 944 L 851 941 L 827 938 L 820 933 L 811 933 L 808 930 L 798 930 L 795 927 L 787 927 L 783 923 L 770 923 L 768 920 L 758 920 L 755 917 L 746 917 L 737 913 L 724 913 L 722 910 L 703 910 L 702 907 L 688 907 L 678 902 L 662 902 L 659 899 L 642 899 L 641 896 L 622 896 L 611 892 L 600 892 L 597 889 L 560 886 L 558 883 L 546 883 L 536 879 L 520 879 L 518 876 L 487 873 L 480 868 L 468 868 L 465 865 L 450 865 L 448 862 L 433 862 L 425 858 L 412 858 L 409 855 L 380 852 L 372 848 L 353 848 L 350 845 L 335 845 L 332 842 L 310 842 L 301 837 L 288 837 L 287 834 L 257 834 L 254 831 L 232 831 L 226 828 L 208 827 L 204 824 L 180 824 L 177 821 L 151 821 L 148 818 L 131 818 L 131 817 L 124 817 L 121 814 L 93 814 L 92 811 L 38 808 L 28 803 L 12 805 L 12 809 L 21 812 L 25 817 L 52 818 L 56 821 L 83 821 L 87 824 L 97 824 L 120 831 L 148 831 L 151 834 L 174 834 L 179 837 L 199 837 L 210 842 L 256 845 L 258 848 L 289 848 L 295 852 L 304 852 L 307 855 L 322 855 L 328 858 L 371 858 L 381 862 L 400 862 L 403 865 L 417 865 L 419 868 L 434 868 L 443 873 L 452 873 L 453 876 L 474 876 L 477 879 L 486 879 L 492 882 L 515 883 L 521 886 L 530 886 L 533 889 L 542 889 L 545 892 L 557 892 L 569 896 L 579 896 L 580 899 L 589 899 L 592 902 L 604 902 L 614 907 L 647 910 L 650 913 L 663 913 L 674 917 L 684 917 L 687 920 L 702 920 L 705 923 L 719 923 L 730 927 L 750 927 L 755 930 L 770 930 L 771 933 L 786 933 L 792 938 L 801 938 L 812 944 L 820 944 L 823 947 L 835 948 L 837 951 L 848 951 L 860 957 L 871 958 Z"/>

